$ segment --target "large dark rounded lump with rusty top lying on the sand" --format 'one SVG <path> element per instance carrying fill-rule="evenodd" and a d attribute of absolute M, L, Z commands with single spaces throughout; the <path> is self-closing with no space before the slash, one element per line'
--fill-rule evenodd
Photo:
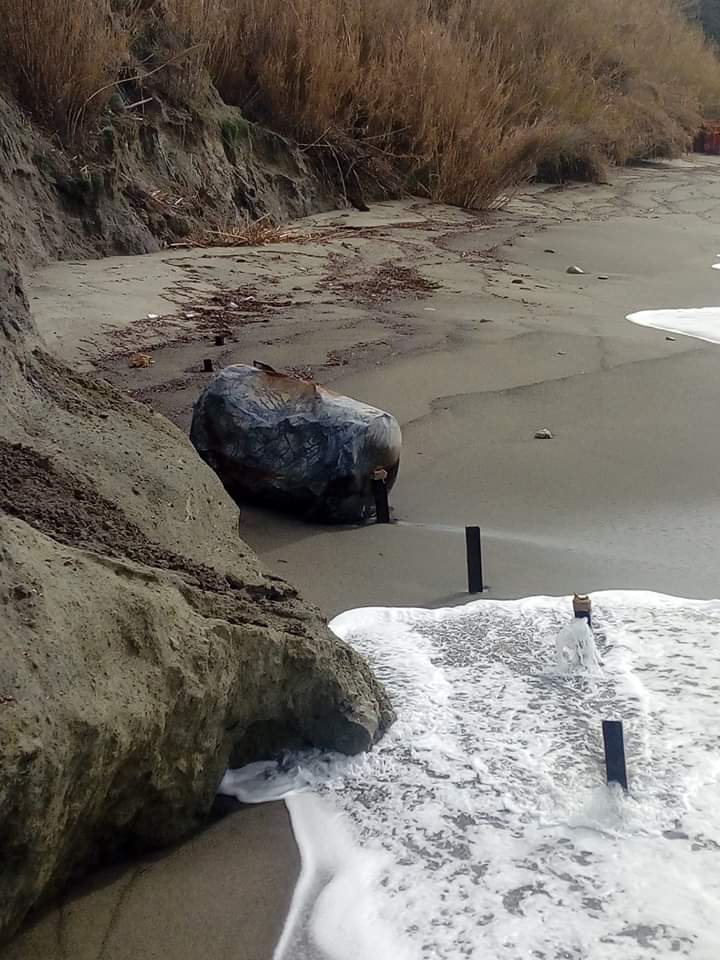
<path fill-rule="evenodd" d="M 392 487 L 402 443 L 389 413 L 259 364 L 213 377 L 190 439 L 236 499 L 328 523 L 374 515 L 373 473 Z"/>

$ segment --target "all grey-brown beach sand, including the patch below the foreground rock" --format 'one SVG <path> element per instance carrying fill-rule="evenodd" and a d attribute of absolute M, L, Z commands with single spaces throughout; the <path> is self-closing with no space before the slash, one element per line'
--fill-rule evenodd
<path fill-rule="evenodd" d="M 58 263 L 28 287 L 51 350 L 184 430 L 205 358 L 312 375 L 398 417 L 399 522 L 242 508 L 243 538 L 328 616 L 462 602 L 466 524 L 492 598 L 709 598 L 720 353 L 625 318 L 717 305 L 719 217 L 720 162 L 702 157 L 533 186 L 483 216 L 404 201 L 312 218 L 309 242 Z M 155 363 L 129 369 L 135 351 Z M 2 956 L 265 960 L 297 870 L 284 807 L 243 810 L 76 891 Z"/>

